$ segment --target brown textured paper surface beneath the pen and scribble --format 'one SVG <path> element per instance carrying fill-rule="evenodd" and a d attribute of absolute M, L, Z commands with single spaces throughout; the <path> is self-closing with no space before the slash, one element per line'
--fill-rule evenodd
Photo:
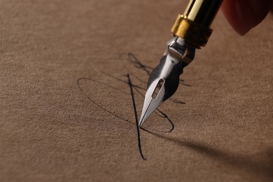
<path fill-rule="evenodd" d="M 272 14 L 221 12 L 173 99 L 137 127 L 186 1 L 1 1 L 0 181 L 272 181 Z M 145 68 L 146 68 L 145 67 Z"/>

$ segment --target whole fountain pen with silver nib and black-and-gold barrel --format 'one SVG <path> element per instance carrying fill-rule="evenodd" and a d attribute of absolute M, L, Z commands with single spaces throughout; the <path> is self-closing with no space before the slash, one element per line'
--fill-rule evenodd
<path fill-rule="evenodd" d="M 160 64 L 148 78 L 144 106 L 139 127 L 151 113 L 171 97 L 179 87 L 179 76 L 183 68 L 195 57 L 195 49 L 206 45 L 211 36 L 211 22 L 214 20 L 223 0 L 190 0 L 183 15 L 178 15 L 171 29 L 173 38 Z"/>

